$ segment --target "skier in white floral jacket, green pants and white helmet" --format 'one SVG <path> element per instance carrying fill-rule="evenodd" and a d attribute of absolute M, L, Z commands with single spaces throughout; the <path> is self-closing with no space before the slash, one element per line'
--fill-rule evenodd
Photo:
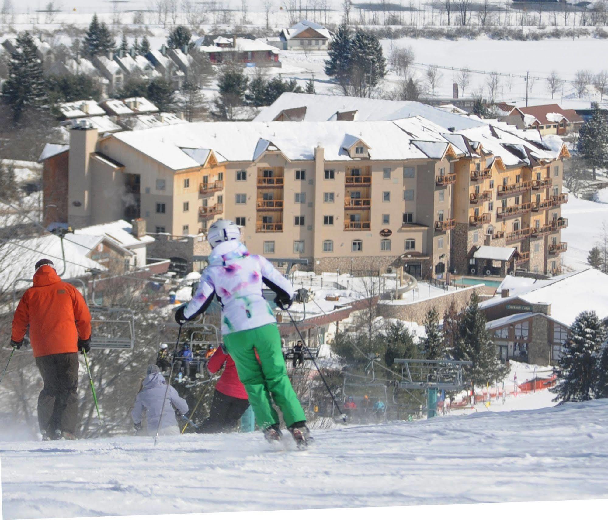
<path fill-rule="evenodd" d="M 215 295 L 222 306 L 226 350 L 237 366 L 264 437 L 269 442 L 281 438 L 272 395 L 298 447 L 305 448 L 310 438 L 306 416 L 287 376 L 277 320 L 262 295 L 262 284 L 277 293 L 275 303 L 282 309 L 291 305 L 294 290 L 266 258 L 250 255 L 240 237 L 240 229 L 232 221 L 219 220 L 210 226 L 207 241 L 213 250 L 209 266 L 201 274 L 195 296 L 178 307 L 175 319 L 179 324 L 192 320 L 205 312 Z"/>

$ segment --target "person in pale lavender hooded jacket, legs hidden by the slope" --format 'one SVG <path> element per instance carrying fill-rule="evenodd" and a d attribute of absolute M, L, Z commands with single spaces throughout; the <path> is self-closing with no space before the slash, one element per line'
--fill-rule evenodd
<path fill-rule="evenodd" d="M 156 435 L 159 422 L 161 423 L 159 435 L 179 435 L 179 426 L 173 408 L 184 415 L 188 412 L 188 404 L 185 399 L 179 397 L 178 391 L 173 386 L 169 386 L 167 391 L 167 381 L 161 374 L 161 369 L 155 364 L 148 366 L 146 374 L 142 381 L 142 388 L 135 398 L 133 412 L 131 412 L 135 429 L 138 432 L 142 429 L 142 415 L 145 410 L 148 435 Z M 165 402 L 165 408 L 162 410 L 161 417 L 163 402 Z"/>

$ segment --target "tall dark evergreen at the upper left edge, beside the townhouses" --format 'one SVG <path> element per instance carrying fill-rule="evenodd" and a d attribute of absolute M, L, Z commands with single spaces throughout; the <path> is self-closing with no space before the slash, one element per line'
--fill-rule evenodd
<path fill-rule="evenodd" d="M 16 50 L 9 60 L 9 77 L 2 85 L 2 98 L 18 121 L 27 107 L 40 107 L 47 101 L 46 83 L 36 46 L 30 33 L 20 33 Z"/>

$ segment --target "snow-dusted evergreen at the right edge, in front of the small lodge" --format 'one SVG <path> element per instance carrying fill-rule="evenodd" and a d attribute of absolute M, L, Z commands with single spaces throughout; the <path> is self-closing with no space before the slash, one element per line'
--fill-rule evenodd
<path fill-rule="evenodd" d="M 606 330 L 596 313 L 583 311 L 570 327 L 570 334 L 564 345 L 561 364 L 561 380 L 551 388 L 557 394 L 554 401 L 588 401 L 595 397 L 595 391 L 604 386 L 598 368 L 601 366 L 602 344 L 606 341 Z M 605 375 L 605 374 L 604 374 Z"/>

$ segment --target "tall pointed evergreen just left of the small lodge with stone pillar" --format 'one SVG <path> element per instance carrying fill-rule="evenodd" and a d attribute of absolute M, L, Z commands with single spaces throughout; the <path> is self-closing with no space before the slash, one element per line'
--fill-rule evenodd
<path fill-rule="evenodd" d="M 458 336 L 454 356 L 460 361 L 473 362 L 466 371 L 473 385 L 492 384 L 505 377 L 508 368 L 500 364 L 496 355 L 496 346 L 486 329 L 486 318 L 479 309 L 479 296 L 475 291 L 460 316 Z"/>

